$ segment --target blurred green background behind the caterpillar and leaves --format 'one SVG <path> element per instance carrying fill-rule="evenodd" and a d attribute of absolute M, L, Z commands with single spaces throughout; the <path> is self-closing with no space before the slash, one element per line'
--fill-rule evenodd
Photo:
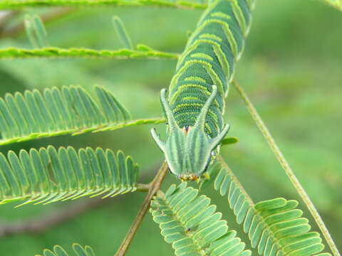
<path fill-rule="evenodd" d="M 310 0 L 258 0 L 256 7 L 235 78 L 249 92 L 342 250 L 342 14 Z M 28 12 L 47 11 L 51 9 Z M 200 14 L 201 11 L 153 7 L 92 7 L 56 18 L 46 23 L 46 28 L 51 46 L 116 49 L 120 43 L 111 18 L 118 15 L 133 43 L 181 52 Z M 19 16 L 6 26 L 11 28 L 21 21 Z M 24 33 L 2 37 L 0 47 L 6 46 L 31 48 Z M 158 93 L 168 86 L 175 64 L 174 60 L 1 60 L 0 96 L 61 85 L 82 85 L 91 92 L 92 85 L 103 85 L 113 91 L 133 118 L 159 117 L 162 112 Z M 226 120 L 232 126 L 229 135 L 238 137 L 239 143 L 224 147 L 222 154 L 254 201 L 279 196 L 299 199 L 234 89 L 227 98 Z M 163 158 L 150 138 L 150 128 L 53 137 L 1 146 L 0 150 L 6 153 L 48 144 L 123 149 L 138 161 L 143 180 L 149 181 Z M 177 181 L 168 176 L 165 186 L 172 182 Z M 144 196 L 131 193 L 114 198 L 43 234 L 0 238 L 0 255 L 34 255 L 56 244 L 70 249 L 72 242 L 90 245 L 97 255 L 113 255 Z M 21 208 L 4 205 L 0 227 L 43 218 L 85 200 L 88 199 Z M 229 226 L 238 228 L 226 199 L 213 196 L 213 202 Z M 305 209 L 303 204 L 300 207 Z M 307 210 L 304 215 L 309 217 Z M 317 230 L 312 220 L 311 225 Z M 242 232 L 239 236 L 245 238 Z M 128 255 L 173 255 L 172 247 L 163 241 L 150 215 Z"/>

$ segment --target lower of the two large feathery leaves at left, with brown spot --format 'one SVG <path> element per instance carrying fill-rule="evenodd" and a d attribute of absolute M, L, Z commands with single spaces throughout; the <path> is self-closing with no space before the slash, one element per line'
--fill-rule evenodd
<path fill-rule="evenodd" d="M 0 201 L 52 203 L 82 196 L 135 191 L 138 165 L 123 151 L 79 149 L 69 146 L 9 151 L 0 154 Z"/>

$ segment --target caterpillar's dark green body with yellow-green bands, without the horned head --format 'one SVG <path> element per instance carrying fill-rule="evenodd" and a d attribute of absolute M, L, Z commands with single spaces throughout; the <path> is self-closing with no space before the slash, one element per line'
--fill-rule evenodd
<path fill-rule="evenodd" d="M 195 124 L 211 86 L 217 85 L 217 104 L 210 109 L 212 114 L 207 116 L 205 132 L 216 137 L 222 129 L 224 97 L 233 77 L 234 64 L 244 48 L 250 22 L 251 11 L 246 0 L 213 1 L 202 14 L 180 56 L 170 85 L 170 105 L 181 128 Z"/>

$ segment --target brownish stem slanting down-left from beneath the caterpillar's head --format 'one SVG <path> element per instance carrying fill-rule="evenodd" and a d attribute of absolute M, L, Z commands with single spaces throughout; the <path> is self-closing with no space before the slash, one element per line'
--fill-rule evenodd
<path fill-rule="evenodd" d="M 138 231 L 138 228 L 140 227 L 140 224 L 142 223 L 143 218 L 145 217 L 148 208 L 150 208 L 150 202 L 155 196 L 155 193 L 159 190 L 160 186 L 162 185 L 162 181 L 164 180 L 166 174 L 167 174 L 167 164 L 164 162 L 162 166 L 160 166 L 159 171 L 157 172 L 157 175 L 153 179 L 153 181 L 150 183 L 150 189 L 147 193 L 147 196 L 145 198 L 144 203 L 142 203 L 142 206 L 138 212 L 137 217 L 135 218 L 132 226 L 130 227 L 130 230 L 128 230 L 128 233 L 121 243 L 118 252 L 115 253 L 115 256 L 124 256 L 128 250 L 128 247 L 130 246 L 130 243 L 132 242 L 135 234 Z"/>

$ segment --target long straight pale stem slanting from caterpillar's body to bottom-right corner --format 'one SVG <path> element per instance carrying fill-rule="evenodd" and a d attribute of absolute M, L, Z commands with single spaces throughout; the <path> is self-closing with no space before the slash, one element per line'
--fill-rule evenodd
<path fill-rule="evenodd" d="M 242 97 L 242 100 L 244 100 L 244 104 L 247 107 L 249 114 L 251 114 L 252 118 L 254 119 L 255 124 L 257 124 L 257 127 L 259 128 L 261 134 L 264 136 L 267 143 L 271 147 L 271 150 L 275 154 L 276 159 L 279 161 L 279 164 L 286 172 L 286 175 L 289 177 L 291 183 L 294 185 L 294 188 L 296 188 L 296 191 L 299 193 L 299 196 L 306 204 L 306 207 L 309 209 L 311 215 L 314 217 L 314 220 L 316 221 L 318 228 L 321 230 L 321 233 L 326 239 L 326 242 L 328 243 L 331 251 L 333 252 L 333 255 L 341 256 L 340 253 L 338 252 L 338 249 L 335 243 L 333 242 L 333 238 L 331 238 L 331 235 L 328 229 L 326 228 L 326 225 L 323 223 L 323 220 L 321 216 L 319 215 L 318 210 L 314 206 L 314 203 L 312 203 L 311 199 L 309 198 L 309 195 L 306 193 L 303 186 L 301 186 L 301 183 L 299 182 L 298 178 L 296 178 L 294 171 L 289 166 L 289 163 L 286 161 L 284 155 L 281 153 L 276 142 L 274 142 L 274 139 L 271 136 L 269 129 L 267 129 L 266 124 L 264 124 L 264 121 L 261 119 L 256 108 L 254 107 L 252 102 L 249 100 L 249 97 L 247 96 L 246 92 L 244 92 L 242 87 L 240 87 L 240 85 L 236 81 L 233 81 L 232 85 L 234 85 L 235 89 L 237 90 L 237 92 L 239 92 L 239 95 Z"/>

